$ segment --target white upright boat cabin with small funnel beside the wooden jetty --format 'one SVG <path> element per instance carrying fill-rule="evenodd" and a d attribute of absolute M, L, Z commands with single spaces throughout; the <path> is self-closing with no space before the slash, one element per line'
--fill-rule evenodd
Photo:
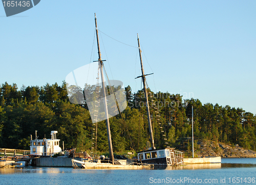
<path fill-rule="evenodd" d="M 30 154 L 35 155 L 54 155 L 55 153 L 62 152 L 59 147 L 59 139 L 56 138 L 58 131 L 51 131 L 51 139 L 30 140 Z M 32 138 L 32 137 L 31 137 Z"/>

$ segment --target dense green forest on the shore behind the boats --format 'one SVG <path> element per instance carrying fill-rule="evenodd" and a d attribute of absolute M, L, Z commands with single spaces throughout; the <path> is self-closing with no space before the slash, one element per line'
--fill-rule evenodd
<path fill-rule="evenodd" d="M 30 135 L 57 138 L 65 148 L 90 151 L 92 120 L 86 104 L 72 104 L 67 84 L 46 84 L 43 87 L 16 84 L 0 86 L 0 147 L 29 149 Z M 179 94 L 154 93 L 150 89 L 151 120 L 156 148 L 177 147 L 182 138 L 191 137 L 191 113 L 194 108 L 194 136 L 198 139 L 238 144 L 256 149 L 256 116 L 242 108 L 202 104 L 199 99 L 182 99 Z M 140 151 L 149 141 L 147 114 L 143 91 L 124 90 L 127 107 L 110 118 L 114 152 Z M 98 122 L 97 150 L 108 151 L 105 121 Z"/>

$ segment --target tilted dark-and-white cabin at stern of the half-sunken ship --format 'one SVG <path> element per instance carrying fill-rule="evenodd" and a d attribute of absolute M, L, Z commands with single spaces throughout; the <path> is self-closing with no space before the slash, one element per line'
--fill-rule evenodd
<path fill-rule="evenodd" d="M 175 148 L 153 149 L 138 152 L 138 161 L 154 166 L 174 166 L 183 163 L 183 152 Z"/>

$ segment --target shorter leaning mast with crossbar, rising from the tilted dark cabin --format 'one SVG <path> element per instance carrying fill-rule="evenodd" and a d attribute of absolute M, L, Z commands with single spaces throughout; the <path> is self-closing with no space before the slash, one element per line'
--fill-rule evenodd
<path fill-rule="evenodd" d="M 148 128 L 150 129 L 150 142 L 151 142 L 152 149 L 155 149 L 153 130 L 152 130 L 152 123 L 151 123 L 151 117 L 150 117 L 150 106 L 148 105 L 148 97 L 147 97 L 147 89 L 146 89 L 146 78 L 145 78 L 145 76 L 149 75 L 149 74 L 146 74 L 146 75 L 144 74 L 142 58 L 141 58 L 141 50 L 140 50 L 140 41 L 139 41 L 139 35 L 138 34 L 137 34 L 137 37 L 138 37 L 138 47 L 139 47 L 139 54 L 140 54 L 140 65 L 141 65 L 141 72 L 142 72 L 142 75 L 138 76 L 138 77 L 142 77 L 143 88 L 144 88 L 144 93 L 145 93 L 145 97 L 146 97 L 147 122 L 148 122 Z"/>

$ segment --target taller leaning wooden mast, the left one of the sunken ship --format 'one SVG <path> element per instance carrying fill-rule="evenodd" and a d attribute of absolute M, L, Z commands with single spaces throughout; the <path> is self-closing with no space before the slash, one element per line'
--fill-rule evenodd
<path fill-rule="evenodd" d="M 105 118 L 106 118 L 106 134 L 108 135 L 108 142 L 109 142 L 109 152 L 110 152 L 110 161 L 114 163 L 114 154 L 112 148 L 112 141 L 111 141 L 111 133 L 110 133 L 110 120 L 109 120 L 109 111 L 108 105 L 106 104 L 106 91 L 104 85 L 104 75 L 103 75 L 103 61 L 101 60 L 100 48 L 99 48 L 99 37 L 98 37 L 98 28 L 97 28 L 97 18 L 95 14 L 95 27 L 96 27 L 96 35 L 97 35 L 97 44 L 98 44 L 98 55 L 99 55 L 99 66 L 100 66 L 100 74 L 101 74 L 101 82 L 102 82 L 102 92 L 103 92 L 103 101 L 104 101 L 104 110 L 105 110 Z"/>

